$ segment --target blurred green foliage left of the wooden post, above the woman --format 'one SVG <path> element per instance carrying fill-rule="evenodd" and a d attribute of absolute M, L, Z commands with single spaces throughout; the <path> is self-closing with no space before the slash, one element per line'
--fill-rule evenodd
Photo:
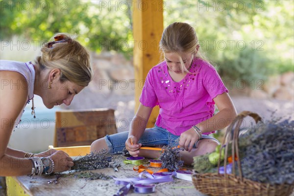
<path fill-rule="evenodd" d="M 117 50 L 130 56 L 131 9 L 123 7 L 130 5 L 120 9 L 103 5 L 82 0 L 1 0 L 0 39 L 22 35 L 43 42 L 67 32 L 78 35 L 77 40 L 93 51 Z"/>

